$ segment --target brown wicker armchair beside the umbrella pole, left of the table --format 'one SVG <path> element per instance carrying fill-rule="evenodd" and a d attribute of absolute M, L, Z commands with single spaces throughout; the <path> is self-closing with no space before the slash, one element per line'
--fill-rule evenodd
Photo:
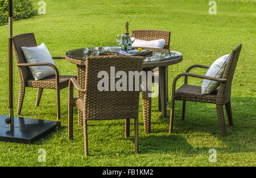
<path fill-rule="evenodd" d="M 36 47 L 36 40 L 33 33 L 30 34 L 21 34 L 13 37 L 13 47 L 16 57 L 16 64 L 18 66 L 19 78 L 20 78 L 20 89 L 19 89 L 19 101 L 17 114 L 20 114 L 22 110 L 22 104 L 24 100 L 25 88 L 32 87 L 38 88 L 38 95 L 36 97 L 35 106 L 38 106 L 40 103 L 40 98 L 43 93 L 44 88 L 56 89 L 57 92 L 57 119 L 60 119 L 60 90 L 68 87 L 69 79 L 76 76 L 59 76 L 59 71 L 55 65 L 50 63 L 37 63 L 37 64 L 28 64 L 22 47 Z M 53 59 L 64 59 L 64 57 L 52 57 Z M 44 78 L 42 80 L 34 80 L 29 66 L 36 65 L 49 65 L 55 71 L 55 76 Z"/>

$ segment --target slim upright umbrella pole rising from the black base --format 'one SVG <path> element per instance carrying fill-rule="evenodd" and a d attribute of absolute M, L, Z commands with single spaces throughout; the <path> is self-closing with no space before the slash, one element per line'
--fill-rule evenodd
<path fill-rule="evenodd" d="M 9 128 L 14 127 L 13 111 L 13 0 L 9 0 Z"/>

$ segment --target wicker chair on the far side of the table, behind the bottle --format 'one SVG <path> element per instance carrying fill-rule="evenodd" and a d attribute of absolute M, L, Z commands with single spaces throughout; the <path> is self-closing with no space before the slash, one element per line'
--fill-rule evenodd
<path fill-rule="evenodd" d="M 141 39 L 141 40 L 157 40 L 157 39 L 164 39 L 166 40 L 166 43 L 164 44 L 164 49 L 170 49 L 170 31 L 161 31 L 161 30 L 133 30 L 131 36 L 133 36 L 135 39 Z M 154 75 L 159 73 L 159 69 L 155 68 L 153 70 L 153 79 Z M 158 74 L 159 75 L 159 74 Z M 160 89 L 159 89 L 160 92 Z M 168 67 L 166 68 L 166 101 L 168 101 Z M 160 93 L 158 95 L 158 110 L 160 111 Z"/>

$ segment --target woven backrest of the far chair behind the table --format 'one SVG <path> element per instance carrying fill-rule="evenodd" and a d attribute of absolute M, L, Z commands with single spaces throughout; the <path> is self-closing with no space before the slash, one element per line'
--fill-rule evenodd
<path fill-rule="evenodd" d="M 158 40 L 164 39 L 166 43 L 164 43 L 164 49 L 170 49 L 170 31 L 162 31 L 162 30 L 133 30 L 131 32 L 131 36 L 135 39 L 140 40 Z"/>

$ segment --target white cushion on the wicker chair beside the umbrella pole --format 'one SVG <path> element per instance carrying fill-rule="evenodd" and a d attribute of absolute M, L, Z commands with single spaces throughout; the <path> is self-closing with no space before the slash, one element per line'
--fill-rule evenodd
<path fill-rule="evenodd" d="M 24 56 L 26 57 L 27 63 L 51 63 L 55 65 L 52 60 L 52 56 L 44 43 L 37 47 L 22 47 L 22 50 Z M 29 68 L 35 80 L 40 80 L 55 75 L 53 68 L 48 65 L 30 66 Z"/>

